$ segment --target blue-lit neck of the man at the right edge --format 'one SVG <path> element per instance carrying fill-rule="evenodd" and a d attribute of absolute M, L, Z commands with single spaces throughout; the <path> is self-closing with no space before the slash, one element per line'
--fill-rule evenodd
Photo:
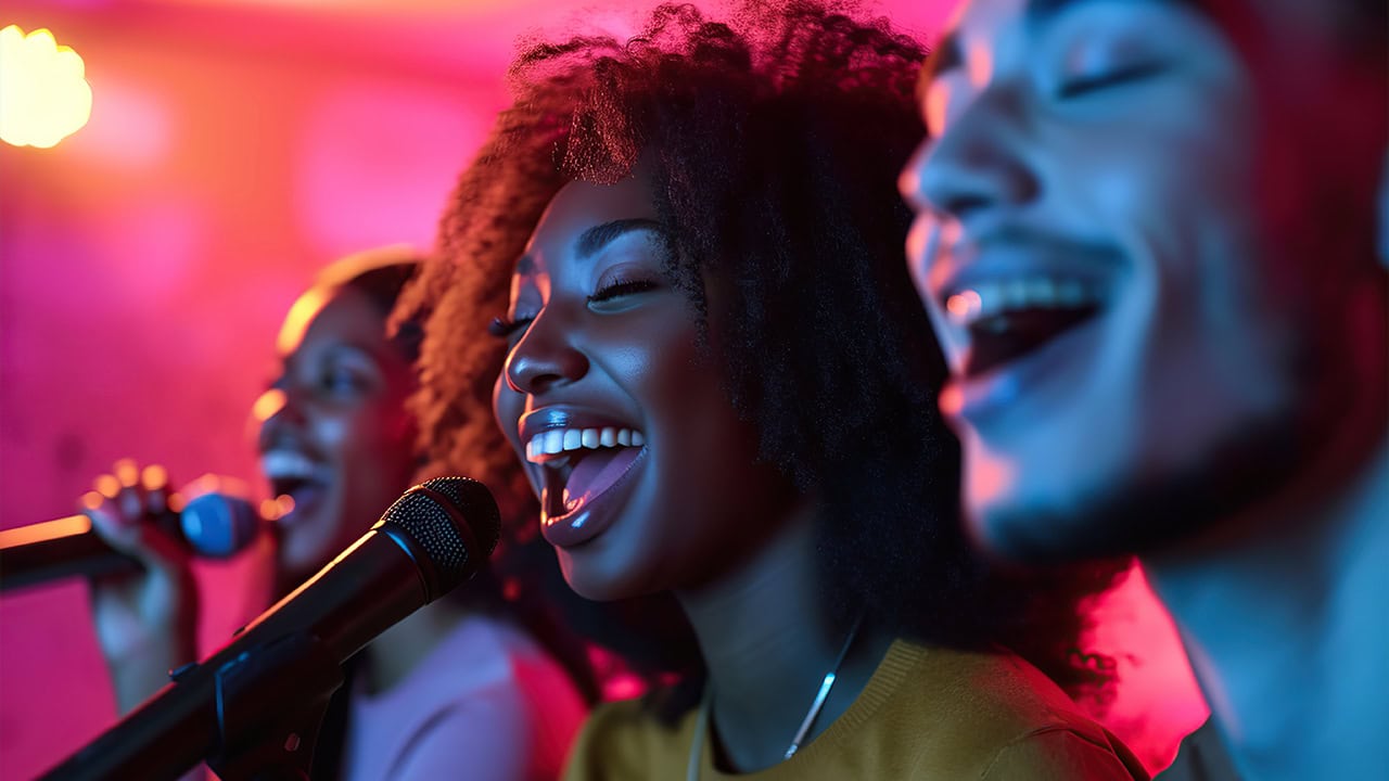
<path fill-rule="evenodd" d="M 1146 561 L 1250 780 L 1382 770 L 1364 746 L 1389 724 L 1389 439 L 1340 485 L 1282 492 L 1239 539 Z"/>

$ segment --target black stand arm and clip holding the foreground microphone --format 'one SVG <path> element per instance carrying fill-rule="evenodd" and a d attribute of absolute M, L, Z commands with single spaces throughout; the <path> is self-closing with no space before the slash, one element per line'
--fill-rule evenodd
<path fill-rule="evenodd" d="M 307 631 L 171 677 L 40 781 L 172 781 L 201 760 L 222 781 L 307 780 L 328 700 L 343 684 L 342 664 Z"/>

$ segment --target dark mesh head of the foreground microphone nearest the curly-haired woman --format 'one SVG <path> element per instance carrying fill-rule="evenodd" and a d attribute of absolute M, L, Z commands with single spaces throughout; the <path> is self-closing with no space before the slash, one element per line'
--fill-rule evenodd
<path fill-rule="evenodd" d="M 465 477 L 439 477 L 411 488 L 381 520 L 406 532 L 428 556 L 435 596 L 471 578 L 501 536 L 492 492 Z"/>

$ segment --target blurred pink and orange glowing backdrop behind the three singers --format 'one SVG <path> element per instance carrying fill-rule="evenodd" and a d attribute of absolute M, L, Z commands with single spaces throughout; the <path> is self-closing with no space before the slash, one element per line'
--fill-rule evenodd
<path fill-rule="evenodd" d="M 929 40 L 954 4 L 876 10 Z M 49 28 L 82 57 L 92 114 L 51 149 L 0 143 L 0 528 L 74 511 L 121 457 L 264 491 L 249 411 L 314 271 L 432 245 L 519 36 L 578 18 L 633 31 L 647 7 L 7 0 L 0 28 Z M 207 648 L 256 611 L 240 585 L 254 567 L 200 570 Z M 1111 725 L 1161 764 L 1204 709 L 1138 579 L 1104 610 L 1125 675 Z M 79 581 L 0 595 L 0 778 L 113 721 L 86 611 Z"/>

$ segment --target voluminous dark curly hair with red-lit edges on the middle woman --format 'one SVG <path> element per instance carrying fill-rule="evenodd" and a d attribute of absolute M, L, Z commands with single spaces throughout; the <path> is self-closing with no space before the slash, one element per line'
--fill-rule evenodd
<path fill-rule="evenodd" d="M 1113 670 L 1076 650 L 1079 603 L 1121 567 L 1003 574 L 964 539 L 958 446 L 935 402 L 945 365 L 907 277 L 910 213 L 895 188 L 925 132 L 925 51 L 853 11 L 753 1 L 721 24 L 668 4 L 625 43 L 531 44 L 511 69 L 514 104 L 443 217 L 446 263 L 407 290 L 407 310 L 432 310 L 424 438 L 440 464 L 524 482 L 490 414 L 506 345 L 482 332 L 507 310 L 513 264 L 556 192 L 615 182 L 640 158 L 665 272 L 700 334 L 717 328 L 733 407 L 761 459 L 822 500 L 833 617 L 1004 645 L 1079 693 Z M 533 504 L 515 510 L 533 529 Z"/>

